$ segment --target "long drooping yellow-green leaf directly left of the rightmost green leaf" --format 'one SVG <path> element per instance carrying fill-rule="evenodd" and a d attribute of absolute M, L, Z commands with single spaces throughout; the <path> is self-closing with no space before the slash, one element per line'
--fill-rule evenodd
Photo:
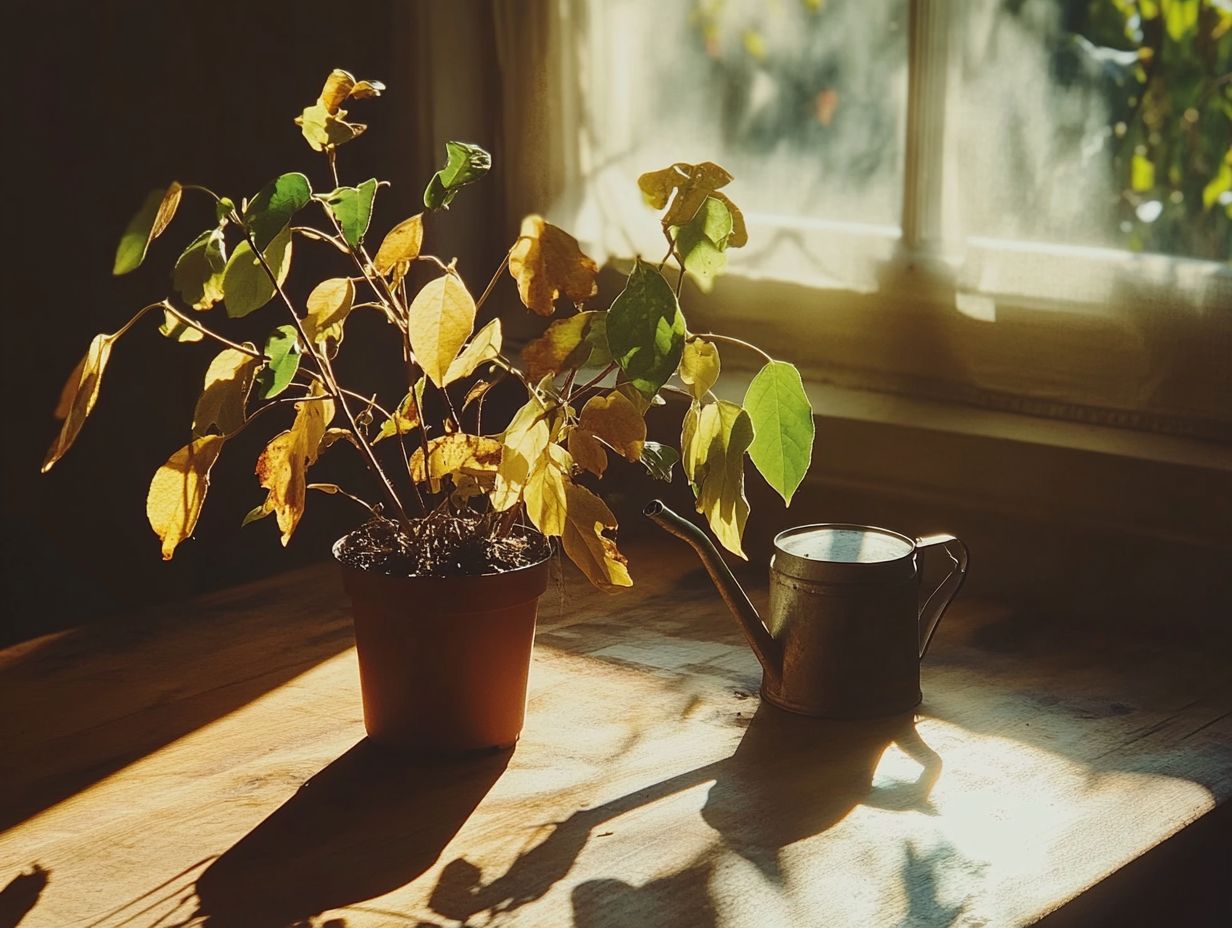
<path fill-rule="evenodd" d="M 744 452 L 752 442 L 749 414 L 734 403 L 707 403 L 697 409 L 692 423 L 685 418 L 683 456 L 685 472 L 696 488 L 697 511 L 706 516 L 723 547 L 740 557 L 740 539 L 749 518 Z"/>

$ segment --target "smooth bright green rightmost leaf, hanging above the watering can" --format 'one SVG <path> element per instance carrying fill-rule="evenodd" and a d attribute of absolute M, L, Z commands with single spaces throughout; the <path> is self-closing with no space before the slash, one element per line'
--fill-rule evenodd
<path fill-rule="evenodd" d="M 749 457 L 790 505 L 813 457 L 813 408 L 800 371 L 786 361 L 770 361 L 749 385 L 744 408 L 753 420 Z"/>

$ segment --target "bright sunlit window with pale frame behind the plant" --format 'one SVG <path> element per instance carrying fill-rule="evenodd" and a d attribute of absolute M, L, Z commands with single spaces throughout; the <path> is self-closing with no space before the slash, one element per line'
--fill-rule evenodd
<path fill-rule="evenodd" d="M 750 244 L 690 312 L 840 385 L 1232 436 L 1232 0 L 552 15 L 596 256 L 658 256 L 637 175 L 716 160 Z"/>

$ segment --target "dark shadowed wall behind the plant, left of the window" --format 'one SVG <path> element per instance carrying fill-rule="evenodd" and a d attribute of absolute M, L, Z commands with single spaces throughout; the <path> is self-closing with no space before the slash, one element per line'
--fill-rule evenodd
<path fill-rule="evenodd" d="M 290 421 L 290 412 L 286 421 L 276 413 L 267 428 L 254 426 L 260 434 L 228 444 L 197 537 L 174 561 L 160 561 L 145 492 L 187 440 L 217 346 L 166 341 L 154 314 L 116 345 L 76 445 L 49 474 L 38 468 L 58 429 L 51 415 L 58 391 L 90 338 L 169 295 L 175 256 L 212 223 L 209 205 L 186 197 L 147 264 L 112 277 L 120 232 L 147 191 L 179 179 L 238 201 L 287 170 L 303 170 L 328 189 L 324 159 L 291 121 L 325 74 L 344 67 L 389 85 L 386 96 L 352 110 L 370 129 L 340 154 L 344 182 L 373 175 L 393 181 L 381 193 L 373 232 L 418 211 L 426 176 L 409 170 L 407 153 L 424 142 L 413 138 L 421 101 L 411 81 L 397 79 L 405 58 L 397 49 L 409 44 L 399 35 L 405 9 L 398 6 L 22 2 L 6 16 L 6 47 L 16 60 L 6 81 L 0 643 L 322 558 L 354 524 L 354 504 L 318 494 L 287 551 L 272 519 L 240 530 L 244 513 L 264 498 L 255 457 Z M 336 260 L 325 245 L 297 242 L 292 291 L 306 293 L 342 272 L 333 269 Z M 269 307 L 233 325 L 219 308 L 207 320 L 260 343 L 286 322 L 276 312 Z M 397 388 L 400 359 L 382 341 L 382 327 L 373 313 L 347 332 L 359 389 Z M 360 479 L 344 457 L 323 462 L 318 478 Z"/>

